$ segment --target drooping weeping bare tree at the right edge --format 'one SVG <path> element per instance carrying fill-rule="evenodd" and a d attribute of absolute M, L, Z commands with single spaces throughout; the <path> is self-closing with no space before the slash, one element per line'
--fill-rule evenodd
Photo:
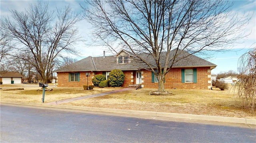
<path fill-rule="evenodd" d="M 235 88 L 244 107 L 254 113 L 256 108 L 256 47 L 242 55 L 238 61 L 239 75 Z"/>

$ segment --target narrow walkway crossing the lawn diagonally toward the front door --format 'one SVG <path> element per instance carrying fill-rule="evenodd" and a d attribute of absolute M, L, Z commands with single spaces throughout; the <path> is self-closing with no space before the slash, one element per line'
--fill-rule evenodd
<path fill-rule="evenodd" d="M 87 98 L 105 96 L 105 95 L 108 95 L 108 94 L 123 92 L 123 91 L 126 91 L 126 90 L 132 90 L 132 89 L 134 89 L 134 88 L 122 88 L 122 89 L 119 89 L 119 90 L 114 90 L 114 91 L 109 91 L 109 92 L 104 92 L 104 93 L 99 93 L 99 94 L 86 95 L 86 96 L 81 96 L 81 97 L 76 97 L 76 98 L 69 98 L 69 99 L 65 99 L 65 100 L 59 100 L 59 101 L 56 101 L 56 102 L 49 102 L 49 103 L 46 103 L 46 104 L 57 105 L 57 104 L 62 104 L 62 103 L 68 103 L 68 102 L 73 102 L 73 101 L 77 101 L 77 100 L 87 99 Z"/>

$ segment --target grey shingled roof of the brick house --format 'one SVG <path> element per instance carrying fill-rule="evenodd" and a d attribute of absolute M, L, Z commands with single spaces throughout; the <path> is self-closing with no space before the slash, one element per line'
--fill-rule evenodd
<path fill-rule="evenodd" d="M 174 49 L 175 50 L 175 49 Z M 171 51 L 170 57 L 174 54 L 174 50 Z M 163 53 L 164 55 L 164 53 Z M 210 63 L 200 57 L 195 55 L 189 55 L 186 51 L 180 52 L 180 55 L 176 59 L 180 57 L 185 57 L 183 59 L 178 60 L 172 68 L 177 67 L 216 67 L 215 64 Z M 147 61 L 153 66 L 156 67 L 154 59 L 148 53 L 140 54 L 141 57 L 147 59 Z M 188 56 L 188 57 L 187 57 Z M 161 63 L 164 63 L 166 58 L 162 56 L 160 60 Z M 55 72 L 76 72 L 76 71 L 111 71 L 113 69 L 120 69 L 122 71 L 129 70 L 138 70 L 142 68 L 147 68 L 147 65 L 144 63 L 138 63 L 136 60 L 132 60 L 131 63 L 126 64 L 117 64 L 116 56 L 105 56 L 105 57 L 86 57 L 80 61 L 72 63 L 68 66 L 61 67 Z"/>

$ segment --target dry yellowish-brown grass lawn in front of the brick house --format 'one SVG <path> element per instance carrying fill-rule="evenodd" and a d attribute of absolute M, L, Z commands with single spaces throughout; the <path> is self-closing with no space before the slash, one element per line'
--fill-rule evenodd
<path fill-rule="evenodd" d="M 42 91 L 36 91 L 36 89 L 40 89 L 39 87 L 28 86 L 28 88 L 23 87 L 24 90 L 15 91 L 3 90 L 16 87 L 1 86 L 1 88 L 1 102 L 41 103 Z M 53 87 L 53 91 L 46 92 L 45 103 L 116 89 L 119 88 L 94 88 L 94 90 L 88 91 L 83 88 Z M 172 92 L 170 95 L 151 96 L 148 93 L 154 89 L 142 88 L 64 103 L 64 105 L 256 119 L 256 114 L 241 108 L 242 102 L 234 97 L 232 89 L 225 91 L 172 89 L 167 90 Z"/>

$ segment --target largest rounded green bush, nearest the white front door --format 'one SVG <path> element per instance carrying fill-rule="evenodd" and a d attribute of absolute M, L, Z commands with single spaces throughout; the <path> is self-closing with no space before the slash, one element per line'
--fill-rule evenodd
<path fill-rule="evenodd" d="M 108 83 L 112 87 L 119 87 L 124 82 L 124 72 L 118 69 L 114 69 L 109 73 Z"/>

